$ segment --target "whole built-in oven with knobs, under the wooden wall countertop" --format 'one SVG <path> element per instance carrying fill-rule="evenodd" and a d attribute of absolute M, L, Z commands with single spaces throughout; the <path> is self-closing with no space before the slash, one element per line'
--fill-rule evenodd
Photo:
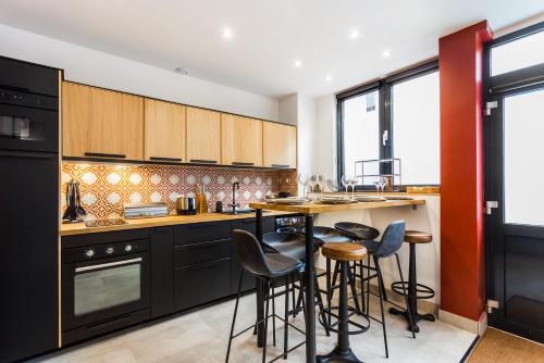
<path fill-rule="evenodd" d="M 149 240 L 62 250 L 63 343 L 150 316 Z"/>

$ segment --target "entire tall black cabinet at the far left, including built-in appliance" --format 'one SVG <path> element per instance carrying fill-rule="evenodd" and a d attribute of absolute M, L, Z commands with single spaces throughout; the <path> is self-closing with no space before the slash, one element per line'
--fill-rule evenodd
<path fill-rule="evenodd" d="M 0 58 L 0 362 L 59 345 L 59 71 Z"/>

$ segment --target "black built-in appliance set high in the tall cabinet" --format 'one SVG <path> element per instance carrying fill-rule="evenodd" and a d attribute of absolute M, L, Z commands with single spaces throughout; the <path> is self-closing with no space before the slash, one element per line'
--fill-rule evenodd
<path fill-rule="evenodd" d="M 59 152 L 59 99 L 2 87 L 0 150 Z"/>

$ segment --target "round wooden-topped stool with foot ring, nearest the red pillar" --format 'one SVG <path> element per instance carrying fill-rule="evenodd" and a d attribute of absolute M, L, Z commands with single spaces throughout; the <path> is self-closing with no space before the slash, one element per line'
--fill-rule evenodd
<path fill-rule="evenodd" d="M 419 333 L 419 321 L 434 322 L 433 314 L 419 314 L 418 300 L 431 299 L 434 297 L 434 290 L 429 286 L 418 284 L 416 274 L 416 246 L 420 243 L 430 243 L 433 236 L 429 233 L 419 230 L 406 230 L 405 242 L 410 243 L 410 262 L 408 267 L 408 281 L 395 281 L 391 289 L 396 293 L 405 296 L 407 299 L 407 310 L 395 308 L 390 309 L 390 314 L 404 315 L 408 320 L 408 329 Z"/>

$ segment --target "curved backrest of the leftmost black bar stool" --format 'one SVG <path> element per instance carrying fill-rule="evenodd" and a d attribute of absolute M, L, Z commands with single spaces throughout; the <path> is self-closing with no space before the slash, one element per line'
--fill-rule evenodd
<path fill-rule="evenodd" d="M 270 276 L 271 272 L 264 259 L 259 240 L 249 231 L 233 230 L 233 251 L 242 266 L 254 275 Z"/>

